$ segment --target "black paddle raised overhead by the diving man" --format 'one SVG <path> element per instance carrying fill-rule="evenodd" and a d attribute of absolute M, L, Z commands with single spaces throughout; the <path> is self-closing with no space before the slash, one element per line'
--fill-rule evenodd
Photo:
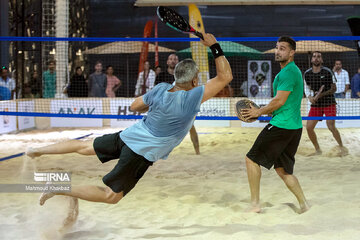
<path fill-rule="evenodd" d="M 186 34 L 192 33 L 204 40 L 202 33 L 196 31 L 192 26 L 190 26 L 189 22 L 186 21 L 185 18 L 173 9 L 160 6 L 157 8 L 157 15 L 163 23 L 172 29 Z"/>

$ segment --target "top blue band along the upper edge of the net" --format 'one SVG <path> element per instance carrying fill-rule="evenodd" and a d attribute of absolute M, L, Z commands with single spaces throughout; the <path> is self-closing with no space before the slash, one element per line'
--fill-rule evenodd
<path fill-rule="evenodd" d="M 276 42 L 279 37 L 220 37 L 218 41 L 232 42 Z M 340 41 L 340 40 L 360 40 L 360 36 L 317 36 L 317 37 L 294 37 L 295 41 L 302 40 L 322 40 L 322 41 Z M 49 41 L 71 41 L 71 42 L 198 42 L 200 38 L 57 38 L 57 37 L 0 37 L 0 41 L 30 41 L 30 42 L 49 42 Z"/>

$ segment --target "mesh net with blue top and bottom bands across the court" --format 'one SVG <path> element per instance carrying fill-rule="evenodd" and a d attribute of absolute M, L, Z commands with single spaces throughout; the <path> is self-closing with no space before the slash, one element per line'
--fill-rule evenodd
<path fill-rule="evenodd" d="M 139 119 L 141 114 L 130 110 L 134 98 L 159 82 L 172 83 L 169 73 L 178 61 L 192 58 L 197 62 L 199 84 L 216 76 L 212 54 L 197 38 L 0 37 L 0 40 L 9 48 L 9 64 L 2 66 L 0 83 L 3 116 Z M 321 104 L 336 102 L 336 117 L 316 119 L 360 119 L 360 100 L 356 98 L 359 86 L 354 85 L 360 78 L 356 50 L 360 37 L 295 40 L 295 63 L 302 74 L 311 68 L 314 51 L 321 52 L 322 65 L 334 72 L 331 81 L 337 90 Z M 234 106 L 241 98 L 250 98 L 262 106 L 274 97 L 272 84 L 281 70 L 274 60 L 277 38 L 218 41 L 234 78 L 215 98 L 202 105 L 198 119 L 236 120 Z M 329 80 L 319 81 L 307 94 L 316 95 L 318 88 Z M 306 87 L 301 114 L 308 119 L 311 103 L 305 93 Z M 78 121 L 79 126 L 82 121 L 85 120 Z"/>

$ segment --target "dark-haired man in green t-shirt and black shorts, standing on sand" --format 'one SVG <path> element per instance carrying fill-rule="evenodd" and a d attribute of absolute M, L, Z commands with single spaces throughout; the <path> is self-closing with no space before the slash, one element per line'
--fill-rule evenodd
<path fill-rule="evenodd" d="M 309 209 L 301 186 L 293 175 L 295 153 L 302 133 L 300 107 L 304 90 L 301 71 L 294 63 L 295 50 L 296 43 L 291 37 L 282 36 L 278 39 L 275 61 L 280 63 L 281 71 L 273 83 L 275 97 L 260 109 L 252 107 L 242 111 L 247 119 L 273 114 L 270 123 L 259 134 L 245 158 L 251 192 L 250 211 L 253 212 L 261 211 L 260 165 L 267 169 L 274 166 L 299 201 L 299 213 Z"/>

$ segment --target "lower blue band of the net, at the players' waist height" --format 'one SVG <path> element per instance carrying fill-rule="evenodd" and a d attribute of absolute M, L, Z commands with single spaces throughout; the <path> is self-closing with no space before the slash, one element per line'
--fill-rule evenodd
<path fill-rule="evenodd" d="M 106 118 L 106 119 L 142 119 L 143 115 L 92 115 L 92 114 L 64 114 L 64 113 L 37 113 L 37 112 L 4 112 L 0 115 L 25 117 L 63 117 L 63 118 Z M 197 116 L 196 120 L 239 120 L 238 117 Z M 269 121 L 271 117 L 259 117 L 260 121 Z M 334 117 L 302 117 L 302 120 L 360 120 L 360 116 L 334 116 Z"/>

